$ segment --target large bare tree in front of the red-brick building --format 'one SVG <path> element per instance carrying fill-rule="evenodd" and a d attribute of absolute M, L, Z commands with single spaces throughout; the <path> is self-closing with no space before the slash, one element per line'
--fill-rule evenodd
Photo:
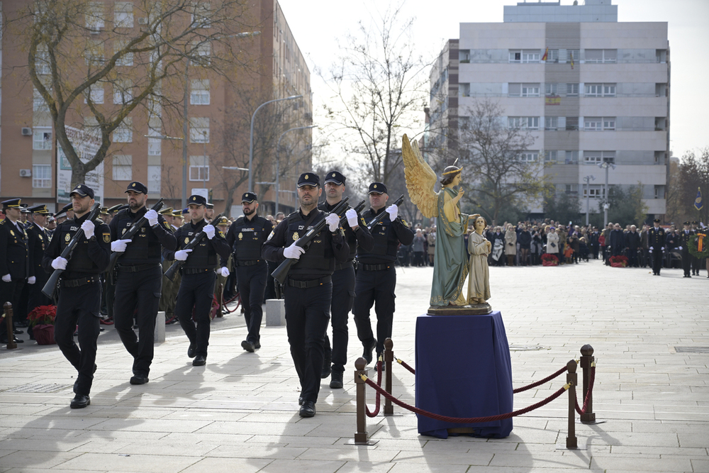
<path fill-rule="evenodd" d="M 103 162 L 112 133 L 130 128 L 138 106 L 149 121 L 179 116 L 188 65 L 230 77 L 243 64 L 231 48 L 245 30 L 245 0 L 35 0 L 10 18 L 28 77 L 49 108 L 57 142 L 72 167 L 72 186 Z M 108 11 L 111 7 L 113 11 Z M 134 24 L 138 18 L 138 24 Z M 113 100 L 103 100 L 110 87 Z M 116 99 L 118 97 L 118 99 Z M 171 108 L 172 107 L 172 108 Z M 80 156 L 67 127 L 89 130 L 97 146 Z"/>

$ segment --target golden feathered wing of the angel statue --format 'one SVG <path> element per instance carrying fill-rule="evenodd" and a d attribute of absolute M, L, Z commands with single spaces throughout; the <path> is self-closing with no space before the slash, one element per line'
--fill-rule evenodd
<path fill-rule="evenodd" d="M 433 191 L 436 184 L 436 173 L 423 160 L 418 150 L 418 143 L 409 143 L 408 136 L 403 135 L 401 143 L 406 189 L 411 202 L 418 207 L 426 218 L 438 216 L 438 196 Z"/>

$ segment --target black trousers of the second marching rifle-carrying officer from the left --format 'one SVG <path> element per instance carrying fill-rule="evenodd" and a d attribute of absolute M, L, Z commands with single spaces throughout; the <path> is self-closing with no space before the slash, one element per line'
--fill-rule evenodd
<path fill-rule="evenodd" d="M 133 355 L 133 374 L 150 374 L 155 348 L 155 318 L 160 304 L 162 267 L 128 272 L 118 269 L 116 296 L 113 301 L 113 323 L 125 350 Z M 133 331 L 133 318 L 138 336 Z"/>

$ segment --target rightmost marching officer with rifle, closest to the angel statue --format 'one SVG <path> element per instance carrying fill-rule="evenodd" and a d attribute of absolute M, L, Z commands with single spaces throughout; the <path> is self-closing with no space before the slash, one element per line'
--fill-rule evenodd
<path fill-rule="evenodd" d="M 371 208 L 362 214 L 364 221 L 371 222 L 382 212 L 389 213 L 371 229 L 374 248 L 370 251 L 357 248 L 357 279 L 354 284 L 354 323 L 357 337 L 364 346 L 362 357 L 372 362 L 372 350 L 379 355 L 384 351 L 384 340 L 391 337 L 394 315 L 394 289 L 396 288 L 396 250 L 401 245 L 411 245 L 413 231 L 398 217 L 396 205 L 386 207 L 389 195 L 381 182 L 369 184 Z M 369 321 L 369 310 L 374 304 L 376 312 L 376 339 Z"/>

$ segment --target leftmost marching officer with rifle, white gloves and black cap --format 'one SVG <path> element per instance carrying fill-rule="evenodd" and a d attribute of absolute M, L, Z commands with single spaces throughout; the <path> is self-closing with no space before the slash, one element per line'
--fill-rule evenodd
<path fill-rule="evenodd" d="M 96 371 L 96 339 L 99 338 L 99 306 L 101 304 L 101 279 L 111 255 L 111 230 L 96 219 L 89 221 L 94 206 L 94 189 L 77 184 L 69 193 L 72 198 L 74 218 L 57 226 L 45 250 L 42 265 L 48 272 L 64 269 L 62 273 L 54 338 L 60 350 L 77 369 L 72 408 L 91 404 L 89 394 Z M 72 256 L 65 260 L 60 255 L 69 241 L 79 231 L 84 238 L 74 247 Z M 74 329 L 79 325 L 79 345 L 74 343 Z"/>

